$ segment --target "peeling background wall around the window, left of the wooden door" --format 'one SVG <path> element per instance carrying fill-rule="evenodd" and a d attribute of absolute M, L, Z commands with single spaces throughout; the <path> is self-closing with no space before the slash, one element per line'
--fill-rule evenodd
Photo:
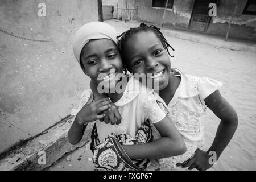
<path fill-rule="evenodd" d="M 187 28 L 193 4 L 195 0 L 174 1 L 172 9 L 166 10 L 164 26 Z M 138 20 L 144 22 L 157 23 L 162 22 L 164 8 L 151 7 L 152 0 L 137 0 L 135 6 L 138 6 Z"/>

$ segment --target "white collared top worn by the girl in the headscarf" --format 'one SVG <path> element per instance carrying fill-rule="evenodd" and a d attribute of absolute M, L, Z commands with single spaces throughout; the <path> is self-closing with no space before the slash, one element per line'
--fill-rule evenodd
<path fill-rule="evenodd" d="M 79 109 L 73 111 L 73 115 L 86 104 L 90 98 L 90 93 L 89 90 L 82 93 Z M 119 125 L 96 121 L 100 142 L 108 137 L 110 133 L 129 134 L 135 137 L 138 129 L 147 119 L 154 124 L 166 117 L 166 113 L 162 109 L 165 107 L 164 110 L 166 111 L 167 106 L 162 98 L 134 77 L 130 77 L 123 96 L 114 104 L 118 107 L 122 121 Z"/>

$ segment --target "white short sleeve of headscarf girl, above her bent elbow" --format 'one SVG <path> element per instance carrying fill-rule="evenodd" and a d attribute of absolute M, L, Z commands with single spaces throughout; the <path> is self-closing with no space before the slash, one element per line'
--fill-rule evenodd
<path fill-rule="evenodd" d="M 146 119 L 149 119 L 151 123 L 157 123 L 166 117 L 165 110 L 160 105 L 159 101 L 156 101 L 156 98 L 153 93 L 148 94 L 143 101 L 143 109 L 146 115 Z"/>

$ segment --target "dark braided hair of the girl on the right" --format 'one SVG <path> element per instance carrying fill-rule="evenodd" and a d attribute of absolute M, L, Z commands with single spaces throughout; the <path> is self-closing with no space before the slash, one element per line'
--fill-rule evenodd
<path fill-rule="evenodd" d="M 171 57 L 174 57 L 172 55 L 170 55 L 170 52 L 168 50 L 168 48 L 170 47 L 172 49 L 172 51 L 174 51 L 174 48 L 171 47 L 171 45 L 167 42 L 166 38 L 164 38 L 163 36 L 163 33 L 160 32 L 160 28 L 154 26 L 154 25 L 151 25 L 151 26 L 147 26 L 146 24 L 144 23 L 141 23 L 139 25 L 139 27 L 137 28 L 130 28 L 129 30 L 123 32 L 121 35 L 118 35 L 117 36 L 117 39 L 118 39 L 118 47 L 121 51 L 121 55 L 122 55 L 122 60 L 124 61 L 125 60 L 125 56 L 123 55 L 123 48 L 125 47 L 127 41 L 129 40 L 129 38 L 131 38 L 133 35 L 139 33 L 139 32 L 147 32 L 147 31 L 151 31 L 153 32 L 158 38 L 159 40 L 161 41 L 164 49 L 166 49 L 167 53 L 169 56 Z M 126 64 L 125 62 L 123 62 L 123 69 L 125 71 L 125 73 L 127 72 L 127 69 L 126 69 Z"/>

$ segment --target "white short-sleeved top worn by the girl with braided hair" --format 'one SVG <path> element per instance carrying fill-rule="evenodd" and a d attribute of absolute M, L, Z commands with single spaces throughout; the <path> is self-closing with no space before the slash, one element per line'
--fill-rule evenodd
<path fill-rule="evenodd" d="M 204 144 L 203 119 L 207 106 L 204 99 L 218 90 L 222 83 L 206 77 L 184 75 L 178 69 L 172 69 L 181 77 L 180 85 L 168 104 L 168 117 L 174 122 L 187 146 L 183 155 L 160 160 L 162 167 L 173 169 L 176 163 L 182 163 L 192 157 Z"/>

